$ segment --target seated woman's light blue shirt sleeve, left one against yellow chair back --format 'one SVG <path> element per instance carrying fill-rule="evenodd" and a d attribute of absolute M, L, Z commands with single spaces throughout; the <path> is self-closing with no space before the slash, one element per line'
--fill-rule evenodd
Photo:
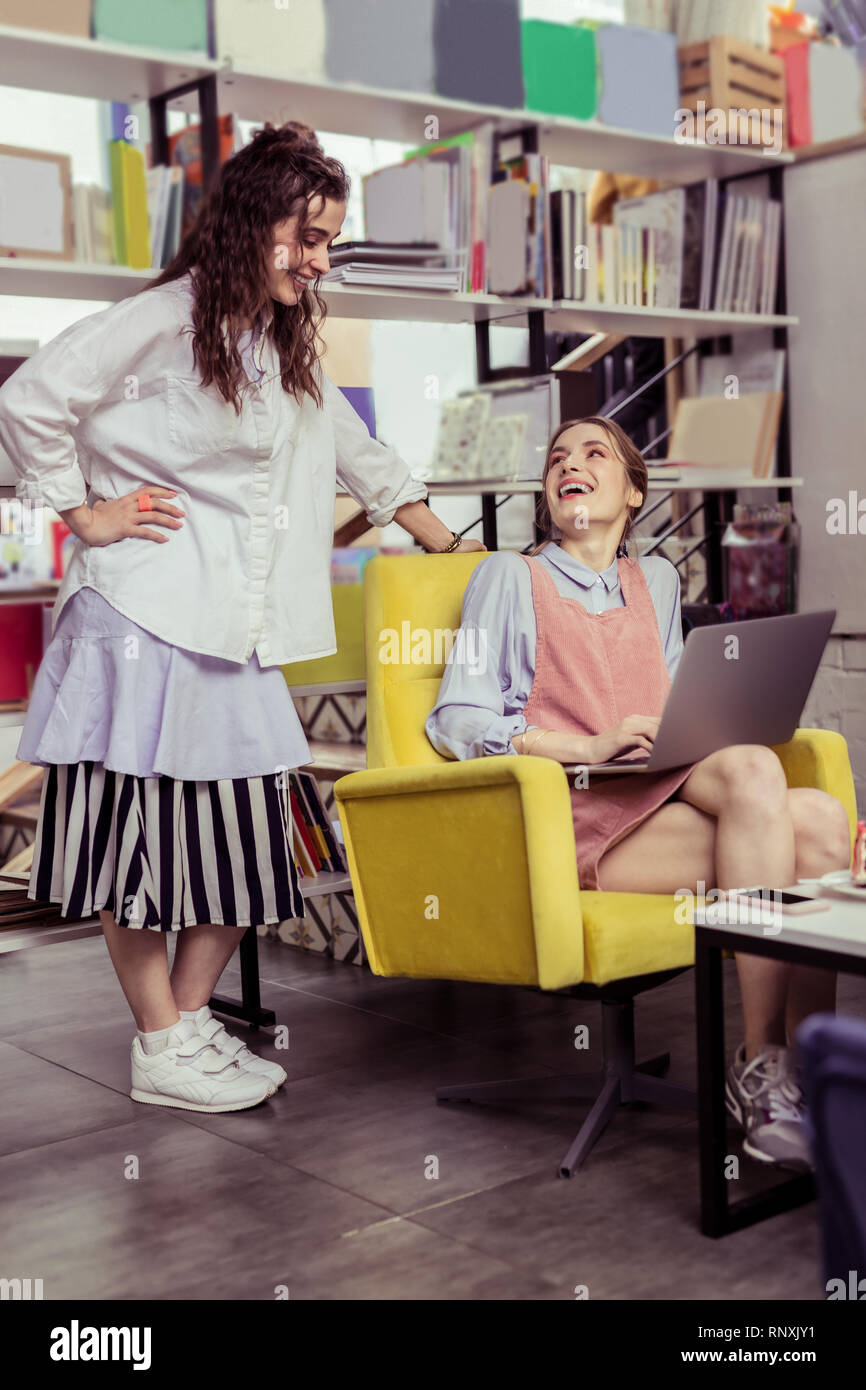
<path fill-rule="evenodd" d="M 474 569 L 439 695 L 424 728 L 443 758 L 512 753 L 527 724 L 523 706 L 535 671 L 537 627 L 530 571 L 498 550 Z"/>

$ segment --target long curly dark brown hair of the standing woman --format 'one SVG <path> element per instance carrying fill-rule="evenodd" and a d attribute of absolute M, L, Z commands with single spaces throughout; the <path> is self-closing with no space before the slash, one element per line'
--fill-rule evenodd
<path fill-rule="evenodd" d="M 339 160 L 329 158 L 316 132 L 300 121 L 275 128 L 268 121 L 249 145 L 221 167 L 195 224 L 163 272 L 142 293 L 167 285 L 189 271 L 193 275 L 192 316 L 193 360 L 202 384 L 215 382 L 220 395 L 240 411 L 240 388 L 246 373 L 238 339 L 239 320 L 254 324 L 272 307 L 271 334 L 279 353 L 281 381 L 302 403 L 304 393 L 321 409 L 322 398 L 314 377 L 320 356 L 318 328 L 327 304 L 318 293 L 318 278 L 300 295 L 297 304 L 271 300 L 267 289 L 274 250 L 274 227 L 299 218 L 297 260 L 302 240 L 313 218 L 321 213 L 316 195 L 345 203 L 349 177 Z M 292 267 L 289 267 L 292 268 Z M 225 338 L 222 320 L 228 317 Z"/>

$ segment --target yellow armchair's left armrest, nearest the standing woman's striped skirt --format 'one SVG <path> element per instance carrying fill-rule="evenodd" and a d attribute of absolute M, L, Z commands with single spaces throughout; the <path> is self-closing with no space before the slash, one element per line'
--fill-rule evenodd
<path fill-rule="evenodd" d="M 544 990 L 582 980 L 560 763 L 503 755 L 368 769 L 334 792 L 375 974 Z"/>

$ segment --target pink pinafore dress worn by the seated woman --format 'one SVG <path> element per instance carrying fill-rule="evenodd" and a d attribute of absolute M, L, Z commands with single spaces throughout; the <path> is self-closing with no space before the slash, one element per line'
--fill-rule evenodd
<path fill-rule="evenodd" d="M 524 555 L 538 627 L 527 724 L 591 737 L 628 714 L 659 716 L 670 689 L 659 620 L 637 560 L 620 557 L 624 607 L 589 613 L 563 598 L 541 560 Z M 637 756 L 645 756 L 638 753 Z M 670 801 L 695 764 L 666 773 L 598 777 L 571 787 L 581 888 L 603 888 L 599 860 L 646 816 Z"/>

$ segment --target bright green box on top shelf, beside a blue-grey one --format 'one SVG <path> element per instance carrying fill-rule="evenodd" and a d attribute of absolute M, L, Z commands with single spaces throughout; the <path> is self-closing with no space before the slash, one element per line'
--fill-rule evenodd
<path fill-rule="evenodd" d="M 546 115 L 595 115 L 595 32 L 573 24 L 524 19 L 520 25 L 525 107 Z"/>

